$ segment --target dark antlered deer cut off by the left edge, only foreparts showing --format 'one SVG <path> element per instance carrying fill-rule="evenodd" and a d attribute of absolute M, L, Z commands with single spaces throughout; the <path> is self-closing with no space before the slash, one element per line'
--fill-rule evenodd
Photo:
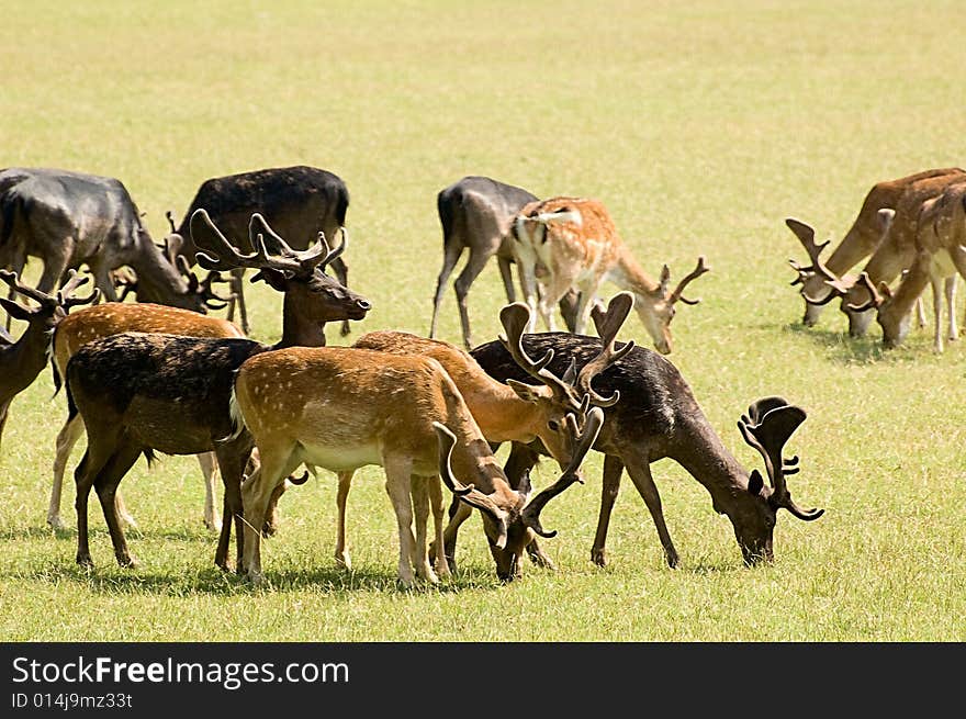
<path fill-rule="evenodd" d="M 50 349 L 50 333 L 70 312 L 70 307 L 96 302 L 100 291 L 87 297 L 74 296 L 75 290 L 90 278 L 77 276 L 77 270 L 69 270 L 67 281 L 56 295 L 49 295 L 20 281 L 15 272 L 0 270 L 0 280 L 14 292 L 37 303 L 37 307 L 24 307 L 12 300 L 0 297 L 0 306 L 7 313 L 27 323 L 26 330 L 15 342 L 0 344 L 0 439 L 3 438 L 3 426 L 13 397 L 27 389 L 47 363 Z"/>

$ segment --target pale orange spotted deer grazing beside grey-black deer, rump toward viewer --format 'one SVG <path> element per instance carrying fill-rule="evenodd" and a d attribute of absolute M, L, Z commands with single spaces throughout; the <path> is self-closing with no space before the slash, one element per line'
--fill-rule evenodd
<path fill-rule="evenodd" d="M 535 329 L 536 312 L 551 332 L 555 328 L 553 307 L 572 288 L 580 292 L 575 310 L 574 332 L 583 334 L 597 292 L 604 280 L 630 291 L 634 308 L 644 328 L 662 355 L 672 349 L 671 321 L 675 304 L 697 304 L 687 300 L 684 289 L 709 270 L 705 258 L 674 290 L 670 290 L 671 270 L 665 265 L 660 281 L 641 269 L 617 233 L 607 210 L 597 200 L 551 198 L 526 205 L 513 224 L 514 251 L 520 271 L 520 284 L 530 306 Z M 537 266 L 547 270 L 537 289 Z"/>

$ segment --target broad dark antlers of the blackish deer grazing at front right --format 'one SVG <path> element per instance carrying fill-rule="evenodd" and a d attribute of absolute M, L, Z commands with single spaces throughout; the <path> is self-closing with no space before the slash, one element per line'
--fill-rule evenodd
<path fill-rule="evenodd" d="M 754 447 L 765 461 L 765 471 L 773 490 L 770 502 L 776 508 L 785 507 L 799 519 L 811 521 L 821 517 L 824 509 L 801 509 L 795 504 L 785 483 L 785 475 L 798 471 L 798 457 L 789 460 L 782 457 L 785 442 L 805 422 L 806 416 L 805 409 L 788 404 L 783 397 L 764 397 L 749 406 L 748 415 L 742 415 L 738 422 L 738 429 L 744 441 Z"/>

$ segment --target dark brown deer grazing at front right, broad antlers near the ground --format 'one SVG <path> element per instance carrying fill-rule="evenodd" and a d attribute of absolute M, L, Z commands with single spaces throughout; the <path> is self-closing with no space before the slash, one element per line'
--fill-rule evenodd
<path fill-rule="evenodd" d="M 599 321 L 602 313 L 594 312 Z M 598 322 L 598 332 L 604 329 Z M 604 333 L 602 332 L 602 335 Z M 607 344 L 613 338 L 607 338 Z M 548 366 L 553 372 L 563 371 L 571 362 L 577 368 L 600 356 L 602 340 L 565 333 L 525 335 L 523 346 L 527 353 L 539 356 L 553 350 Z M 622 348 L 616 347 L 620 352 Z M 471 351 L 480 366 L 499 381 L 528 381 L 518 363 L 501 342 L 492 341 Z M 532 381 L 532 380 L 531 380 Z M 617 362 L 594 378 L 596 391 L 618 395 L 619 401 L 605 411 L 604 426 L 594 448 L 604 453 L 604 483 L 597 532 L 591 558 L 595 564 L 606 564 L 605 543 L 610 513 L 620 487 L 625 469 L 644 501 L 670 566 L 678 563 L 677 550 L 664 521 L 661 496 L 651 475 L 650 464 L 670 458 L 681 464 L 711 495 L 716 512 L 731 520 L 742 557 L 748 564 L 774 557 L 773 531 L 779 509 L 806 521 L 818 519 L 822 509 L 801 509 L 791 499 L 786 475 L 797 472 L 797 458 L 780 458 L 780 447 L 805 419 L 805 412 L 777 398 L 760 400 L 743 418 L 742 435 L 749 443 L 757 438 L 755 449 L 765 449 L 765 468 L 771 486 L 762 482 L 757 470 L 751 473 L 728 451 L 701 412 L 687 382 L 677 369 L 660 355 L 636 347 Z M 783 408 L 784 407 L 784 408 Z M 772 414 L 771 409 L 777 412 Z M 749 434 L 750 432 L 750 434 Z M 536 461 L 533 447 L 514 445 L 507 467 L 508 474 L 526 471 Z M 542 451 L 542 448 L 539 448 Z M 558 483 L 561 484 L 561 483 Z M 566 484 L 562 484 L 565 488 Z M 548 487 L 546 492 L 552 493 Z M 539 516 L 531 517 L 530 527 L 538 535 Z M 447 553 L 454 551 L 456 531 L 448 527 Z"/>

